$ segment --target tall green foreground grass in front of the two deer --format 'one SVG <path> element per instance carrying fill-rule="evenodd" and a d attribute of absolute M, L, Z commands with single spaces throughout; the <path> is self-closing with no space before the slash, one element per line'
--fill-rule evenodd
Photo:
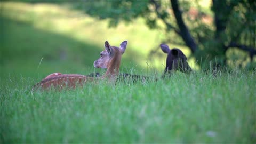
<path fill-rule="evenodd" d="M 1 141 L 253 143 L 255 76 L 175 73 L 157 82 L 100 82 L 33 94 L 33 78 L 1 79 Z"/>

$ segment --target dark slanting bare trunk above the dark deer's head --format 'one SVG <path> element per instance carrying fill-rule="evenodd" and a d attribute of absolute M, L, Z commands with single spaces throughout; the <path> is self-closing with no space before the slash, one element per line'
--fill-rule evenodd
<path fill-rule="evenodd" d="M 175 19 L 180 29 L 180 36 L 182 37 L 183 41 L 185 41 L 186 45 L 190 48 L 192 53 L 194 53 L 197 50 L 197 44 L 194 38 L 189 33 L 189 30 L 182 19 L 182 13 L 179 9 L 178 1 L 171 0 L 171 5 L 172 5 L 172 10 L 173 10 Z"/>

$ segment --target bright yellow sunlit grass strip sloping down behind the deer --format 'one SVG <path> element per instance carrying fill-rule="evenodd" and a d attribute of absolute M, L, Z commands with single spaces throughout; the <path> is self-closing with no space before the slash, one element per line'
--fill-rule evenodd
<path fill-rule="evenodd" d="M 108 20 L 90 18 L 81 11 L 68 9 L 67 6 L 18 2 L 2 4 L 3 17 L 28 22 L 37 29 L 74 38 L 81 43 L 91 42 L 102 46 L 102 42 L 107 40 L 115 45 L 126 39 L 129 41 L 130 50 L 127 53 L 136 53 L 137 57 L 132 58 L 126 54 L 124 58 L 136 61 L 140 67 L 147 66 L 145 61 L 148 52 L 152 45 L 158 45 L 161 40 L 158 38 L 159 32 L 149 30 L 141 19 L 134 21 L 132 25 L 121 23 L 117 28 L 109 28 Z"/>

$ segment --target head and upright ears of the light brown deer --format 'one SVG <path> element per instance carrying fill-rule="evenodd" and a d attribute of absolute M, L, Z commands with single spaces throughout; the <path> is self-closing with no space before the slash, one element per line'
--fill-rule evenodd
<path fill-rule="evenodd" d="M 113 62 L 121 60 L 121 55 L 125 52 L 127 41 L 120 44 L 120 47 L 110 46 L 108 41 L 105 42 L 105 50 L 100 52 L 100 58 L 94 61 L 95 68 L 109 68 Z"/>

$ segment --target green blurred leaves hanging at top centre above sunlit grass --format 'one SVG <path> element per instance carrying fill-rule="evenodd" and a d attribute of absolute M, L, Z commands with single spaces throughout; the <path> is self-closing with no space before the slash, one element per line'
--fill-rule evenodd
<path fill-rule="evenodd" d="M 74 2 L 72 4 L 74 9 L 84 10 L 92 17 L 99 19 L 110 18 L 109 25 L 117 26 L 121 20 L 133 21 L 141 14 L 147 11 L 147 1 L 87 1 L 87 2 Z"/>

